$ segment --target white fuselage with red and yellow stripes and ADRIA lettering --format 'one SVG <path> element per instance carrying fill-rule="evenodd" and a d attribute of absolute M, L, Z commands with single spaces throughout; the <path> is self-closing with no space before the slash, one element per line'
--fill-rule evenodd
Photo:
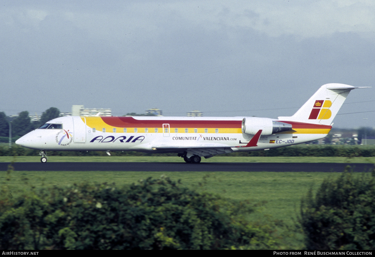
<path fill-rule="evenodd" d="M 327 135 L 330 129 L 325 126 L 324 128 L 294 129 L 284 133 L 261 135 L 257 146 L 238 148 L 236 146 L 246 145 L 253 136 L 242 133 L 241 122 L 243 117 L 124 118 L 132 118 L 132 120 L 144 123 L 126 123 L 119 126 L 120 124 L 103 123 L 102 117 L 60 117 L 48 123 L 62 124 L 62 129 L 33 130 L 18 139 L 17 144 L 44 151 L 141 151 L 156 153 L 181 152 L 182 149 L 197 147 L 258 151 L 321 139 Z M 186 121 L 189 121 L 189 123 L 184 123 Z M 223 125 L 222 122 L 228 122 L 228 124 Z M 173 123 L 178 123 L 178 126 Z M 150 124 L 150 127 L 145 127 L 144 124 Z M 314 124 L 306 125 L 314 126 Z M 315 125 L 315 127 L 317 126 Z M 126 132 L 124 132 L 124 129 Z M 159 150 L 160 147 L 168 149 Z M 153 148 L 157 149 L 153 150 Z"/>

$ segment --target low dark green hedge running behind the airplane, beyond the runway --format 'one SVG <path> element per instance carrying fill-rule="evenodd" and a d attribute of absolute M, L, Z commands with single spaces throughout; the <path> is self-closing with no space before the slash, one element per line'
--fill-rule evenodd
<path fill-rule="evenodd" d="M 39 151 L 27 149 L 18 145 L 9 148 L 0 146 L 0 156 L 37 156 Z M 66 152 L 48 151 L 48 156 L 98 156 L 107 155 L 105 152 Z M 176 154 L 150 154 L 141 152 L 111 152 L 111 155 L 136 155 L 136 156 L 174 156 Z M 237 152 L 231 156 L 317 156 L 317 157 L 375 157 L 374 146 L 333 146 L 333 145 L 297 145 L 267 151 Z"/>

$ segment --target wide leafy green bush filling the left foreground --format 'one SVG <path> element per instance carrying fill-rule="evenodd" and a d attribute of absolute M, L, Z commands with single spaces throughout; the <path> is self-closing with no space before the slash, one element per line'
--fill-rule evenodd
<path fill-rule="evenodd" d="M 0 200 L 0 249 L 275 249 L 254 206 L 182 188 L 169 178 L 128 188 L 74 185 Z M 246 217 L 246 218 L 245 218 Z"/>

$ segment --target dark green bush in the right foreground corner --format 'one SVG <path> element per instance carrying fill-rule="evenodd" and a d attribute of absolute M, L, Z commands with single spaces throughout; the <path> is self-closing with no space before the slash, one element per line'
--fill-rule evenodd
<path fill-rule="evenodd" d="M 307 249 L 375 249 L 374 213 L 375 171 L 354 175 L 346 170 L 336 180 L 324 180 L 315 197 L 310 191 L 302 200 Z"/>

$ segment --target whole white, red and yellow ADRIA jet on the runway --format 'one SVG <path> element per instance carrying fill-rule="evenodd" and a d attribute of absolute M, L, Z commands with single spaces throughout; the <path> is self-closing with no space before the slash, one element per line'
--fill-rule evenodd
<path fill-rule="evenodd" d="M 75 117 L 55 118 L 16 141 L 46 151 L 139 151 L 176 153 L 186 163 L 201 157 L 268 150 L 327 136 L 351 90 L 325 84 L 293 115 L 260 117 Z"/>

